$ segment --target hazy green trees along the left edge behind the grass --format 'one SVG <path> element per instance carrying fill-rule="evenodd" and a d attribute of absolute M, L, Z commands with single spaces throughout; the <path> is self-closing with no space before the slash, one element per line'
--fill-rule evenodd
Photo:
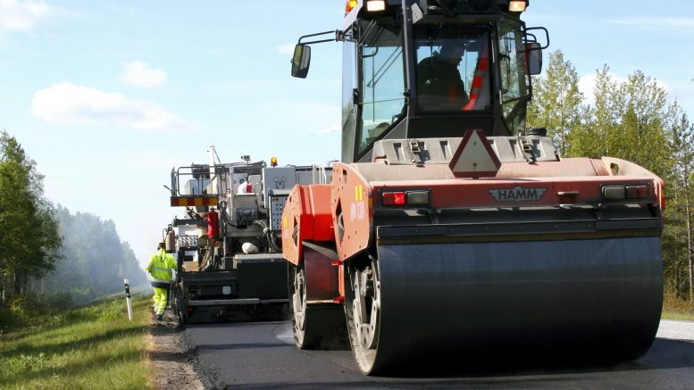
<path fill-rule="evenodd" d="M 15 137 L 0 133 L 0 308 L 42 295 L 87 303 L 144 285 L 111 220 L 71 214 L 46 198 L 44 176 Z"/>

